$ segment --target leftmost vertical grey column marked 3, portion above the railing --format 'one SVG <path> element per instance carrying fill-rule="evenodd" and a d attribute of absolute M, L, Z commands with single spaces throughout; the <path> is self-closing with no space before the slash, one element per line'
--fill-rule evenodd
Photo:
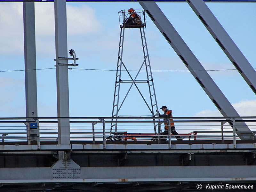
<path fill-rule="evenodd" d="M 26 117 L 37 117 L 36 34 L 34 2 L 23 3 Z"/>

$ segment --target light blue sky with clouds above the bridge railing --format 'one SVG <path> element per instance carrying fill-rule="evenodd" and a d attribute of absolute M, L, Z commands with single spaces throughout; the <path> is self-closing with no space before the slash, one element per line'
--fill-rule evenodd
<path fill-rule="evenodd" d="M 187 3 L 158 3 L 158 6 L 205 69 L 234 69 Z M 207 3 L 207 6 L 256 68 L 256 4 Z M 73 68 L 116 69 L 118 11 L 131 7 L 142 9 L 139 3 L 67 3 L 68 49 L 74 49 L 79 58 L 79 66 Z M 36 65 L 39 69 L 54 68 L 54 4 L 35 3 L 35 9 Z M 0 3 L 1 71 L 24 69 L 22 18 L 22 3 Z M 187 70 L 149 17 L 145 33 L 152 70 Z M 139 30 L 127 29 L 124 41 L 124 63 L 127 68 L 138 70 L 143 61 Z M 74 69 L 68 73 L 70 116 L 111 116 L 116 72 Z M 255 94 L 237 71 L 209 74 L 241 116 L 256 115 Z M 190 72 L 153 72 L 153 78 L 159 108 L 166 105 L 173 116 L 220 116 Z M 24 117 L 24 71 L 0 72 L 0 80 L 0 116 Z M 125 89 L 123 86 L 123 94 Z M 141 90 L 147 97 L 147 87 L 141 85 Z M 55 69 L 37 71 L 37 98 L 38 116 L 57 116 Z M 150 115 L 135 87 L 120 115 Z"/>

